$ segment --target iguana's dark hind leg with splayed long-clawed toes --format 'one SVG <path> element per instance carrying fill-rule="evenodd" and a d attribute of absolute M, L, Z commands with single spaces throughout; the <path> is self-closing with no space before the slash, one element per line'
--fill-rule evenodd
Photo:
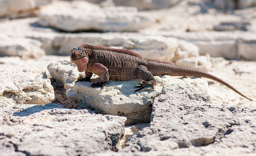
<path fill-rule="evenodd" d="M 138 89 L 135 90 L 134 93 L 140 91 L 141 89 L 143 89 L 145 87 L 152 87 L 152 90 L 154 90 L 154 85 L 156 84 L 156 80 L 155 80 L 153 74 L 148 71 L 148 68 L 146 66 L 139 65 L 134 71 L 134 77 L 144 80 L 144 82 L 139 83 L 135 87 Z"/>

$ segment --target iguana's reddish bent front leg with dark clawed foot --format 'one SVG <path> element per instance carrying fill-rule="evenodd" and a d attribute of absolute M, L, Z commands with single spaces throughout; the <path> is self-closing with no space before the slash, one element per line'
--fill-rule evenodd
<path fill-rule="evenodd" d="M 92 64 L 92 71 L 93 73 L 97 73 L 100 75 L 101 82 L 92 83 L 90 87 L 92 88 L 102 87 L 103 89 L 106 86 L 106 83 L 108 83 L 108 79 L 109 79 L 108 68 L 102 65 L 101 63 L 94 63 Z"/>

